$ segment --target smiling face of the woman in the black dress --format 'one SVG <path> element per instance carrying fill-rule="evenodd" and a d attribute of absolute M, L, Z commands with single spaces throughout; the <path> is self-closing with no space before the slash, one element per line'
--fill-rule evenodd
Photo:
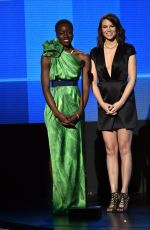
<path fill-rule="evenodd" d="M 105 40 L 113 41 L 116 38 L 116 27 L 107 19 L 102 21 L 101 31 Z"/>

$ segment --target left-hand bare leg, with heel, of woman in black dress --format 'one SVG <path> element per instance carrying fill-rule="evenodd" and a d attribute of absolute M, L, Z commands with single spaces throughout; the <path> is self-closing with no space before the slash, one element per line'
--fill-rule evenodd
<path fill-rule="evenodd" d="M 107 212 L 116 211 L 118 203 L 118 143 L 116 131 L 103 131 L 103 139 L 106 148 L 107 170 L 111 188 L 111 200 Z"/>

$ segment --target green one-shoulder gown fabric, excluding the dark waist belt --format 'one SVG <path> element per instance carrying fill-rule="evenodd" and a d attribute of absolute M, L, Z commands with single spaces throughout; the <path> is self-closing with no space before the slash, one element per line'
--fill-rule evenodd
<path fill-rule="evenodd" d="M 78 80 L 81 63 L 62 45 L 52 40 L 44 44 L 43 56 L 51 58 L 50 80 Z M 64 114 L 76 113 L 80 103 L 78 86 L 50 87 L 58 110 Z M 64 127 L 48 105 L 44 112 L 48 132 L 53 177 L 53 213 L 67 212 L 72 207 L 85 207 L 85 170 L 83 155 L 83 121 L 75 127 Z"/>

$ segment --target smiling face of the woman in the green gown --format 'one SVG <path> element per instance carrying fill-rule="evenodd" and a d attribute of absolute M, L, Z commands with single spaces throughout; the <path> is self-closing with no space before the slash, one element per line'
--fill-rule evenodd
<path fill-rule="evenodd" d="M 62 22 L 59 24 L 56 30 L 56 35 L 58 41 L 64 46 L 64 48 L 69 48 L 71 46 L 73 39 L 73 28 L 69 23 Z"/>

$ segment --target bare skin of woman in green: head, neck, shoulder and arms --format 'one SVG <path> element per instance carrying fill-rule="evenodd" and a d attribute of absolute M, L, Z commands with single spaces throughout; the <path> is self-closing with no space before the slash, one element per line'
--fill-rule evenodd
<path fill-rule="evenodd" d="M 41 57 L 41 82 L 42 82 L 42 89 L 43 94 L 45 97 L 45 100 L 48 104 L 48 106 L 51 108 L 53 114 L 57 119 L 62 123 L 64 126 L 74 126 L 78 119 L 82 116 L 82 113 L 84 111 L 84 108 L 86 106 L 88 95 L 89 95 L 89 72 L 90 72 L 90 58 L 88 55 L 83 54 L 82 52 L 76 50 L 73 48 L 71 42 L 73 40 L 73 30 L 69 23 L 63 22 L 59 24 L 56 35 L 58 38 L 58 41 L 63 45 L 63 48 L 65 51 L 71 53 L 73 51 L 72 55 L 78 59 L 79 61 L 84 61 L 84 66 L 82 68 L 82 78 L 83 78 L 83 92 L 80 99 L 80 106 L 76 113 L 72 115 L 67 115 L 64 113 L 59 112 L 59 110 L 56 107 L 54 98 L 49 90 L 50 87 L 50 79 L 49 79 L 49 71 L 50 71 L 50 65 L 51 60 L 48 57 Z"/>

